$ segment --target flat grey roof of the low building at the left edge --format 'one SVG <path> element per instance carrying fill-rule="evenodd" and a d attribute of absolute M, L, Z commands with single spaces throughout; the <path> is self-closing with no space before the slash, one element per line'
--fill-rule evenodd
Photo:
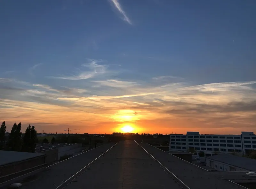
<path fill-rule="evenodd" d="M 9 163 L 20 162 L 23 160 L 27 160 L 27 159 L 42 156 L 42 155 L 44 154 L 0 150 L 0 166 L 9 164 Z"/>

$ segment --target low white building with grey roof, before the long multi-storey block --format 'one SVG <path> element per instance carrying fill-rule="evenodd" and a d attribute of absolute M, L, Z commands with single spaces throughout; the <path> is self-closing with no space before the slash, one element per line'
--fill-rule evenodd
<path fill-rule="evenodd" d="M 256 160 L 251 158 L 219 154 L 205 159 L 206 165 L 220 171 L 256 171 Z"/>

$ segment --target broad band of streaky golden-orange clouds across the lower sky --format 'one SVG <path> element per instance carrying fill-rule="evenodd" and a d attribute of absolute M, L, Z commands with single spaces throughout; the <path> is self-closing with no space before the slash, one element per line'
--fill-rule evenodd
<path fill-rule="evenodd" d="M 72 78 L 72 82 L 38 84 L 0 78 L 0 119 L 16 121 L 13 117 L 20 116 L 25 123 L 48 120 L 55 126 L 76 122 L 81 127 L 88 124 L 97 128 L 105 123 L 111 127 L 133 121 L 139 127 L 153 129 L 157 125 L 157 129 L 176 128 L 177 132 L 185 127 L 248 131 L 256 121 L 256 81 L 192 85 L 172 76 L 134 81 L 124 79 L 122 74 L 106 74 L 113 70 L 103 62 L 88 59 L 81 65 L 75 76 L 82 78 L 82 73 L 91 73 L 94 79 L 86 82 Z M 98 87 L 93 87 L 95 84 Z"/>

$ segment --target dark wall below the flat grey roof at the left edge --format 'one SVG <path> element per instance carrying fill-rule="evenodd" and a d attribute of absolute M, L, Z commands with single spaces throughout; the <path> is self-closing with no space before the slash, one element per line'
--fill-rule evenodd
<path fill-rule="evenodd" d="M 32 167 L 36 167 L 44 163 L 45 163 L 45 155 L 34 157 L 31 159 L 16 162 L 16 163 L 11 163 L 4 166 L 0 166 L 0 177 L 19 172 L 21 170 L 26 170 Z"/>

